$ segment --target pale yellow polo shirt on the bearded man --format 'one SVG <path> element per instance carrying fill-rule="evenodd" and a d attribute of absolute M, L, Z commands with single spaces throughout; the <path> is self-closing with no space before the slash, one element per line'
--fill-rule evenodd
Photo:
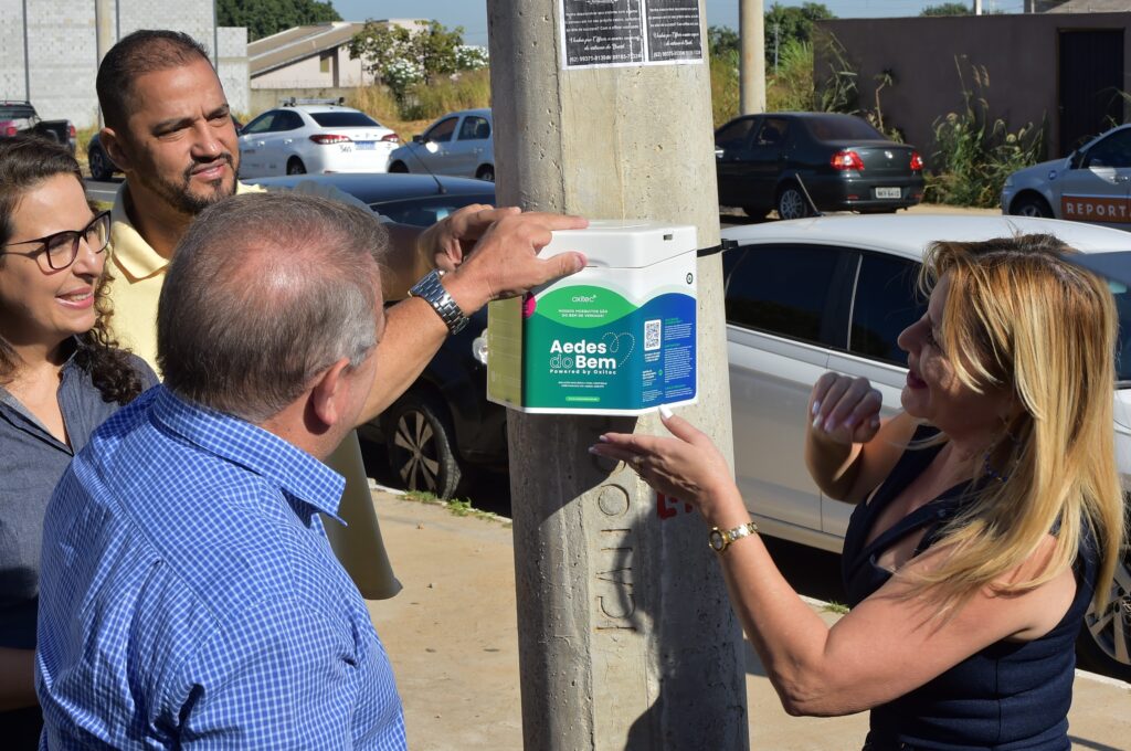
<path fill-rule="evenodd" d="M 110 296 L 114 304 L 112 328 L 119 344 L 133 351 L 157 371 L 157 301 L 165 283 L 169 259 L 163 258 L 146 242 L 126 212 L 123 182 L 110 210 L 110 273 L 114 280 Z M 259 185 L 235 183 L 235 192 L 261 193 Z"/>

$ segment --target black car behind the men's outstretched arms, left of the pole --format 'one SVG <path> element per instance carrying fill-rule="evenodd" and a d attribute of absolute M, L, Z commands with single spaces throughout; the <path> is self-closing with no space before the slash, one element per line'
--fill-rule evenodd
<path fill-rule="evenodd" d="M 331 185 L 395 222 L 429 226 L 469 204 L 494 204 L 494 185 L 481 180 L 423 174 L 336 174 L 262 178 L 268 190 L 301 182 Z M 507 466 L 507 412 L 486 399 L 483 333 L 486 310 L 444 339 L 420 378 L 357 433 L 385 446 L 389 465 L 408 490 L 456 495 L 480 469 Z M 366 447 L 368 448 L 368 447 Z"/>

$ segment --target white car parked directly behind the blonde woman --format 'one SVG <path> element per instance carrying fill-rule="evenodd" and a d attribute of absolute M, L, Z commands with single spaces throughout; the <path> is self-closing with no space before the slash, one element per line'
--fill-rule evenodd
<path fill-rule="evenodd" d="M 907 365 L 896 337 L 925 309 L 914 287 L 924 248 L 1018 232 L 1052 233 L 1085 252 L 1128 249 L 1123 232 L 1004 216 L 826 216 L 723 231 L 735 243 L 723 256 L 734 466 L 763 533 L 840 552 L 852 507 L 822 495 L 804 461 L 813 383 L 829 370 L 867 378 L 883 394 L 883 414 L 897 412 Z M 1131 294 L 1112 290 L 1129 325 L 1113 396 L 1119 467 L 1131 489 Z M 1106 605 L 1085 623 L 1081 665 L 1131 679 L 1126 556 Z"/>

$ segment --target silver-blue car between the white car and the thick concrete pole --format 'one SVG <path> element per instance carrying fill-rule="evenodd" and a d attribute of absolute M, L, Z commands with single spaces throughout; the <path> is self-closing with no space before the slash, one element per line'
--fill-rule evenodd
<path fill-rule="evenodd" d="M 494 182 L 491 110 L 449 112 L 389 155 L 389 172 L 431 172 Z"/>

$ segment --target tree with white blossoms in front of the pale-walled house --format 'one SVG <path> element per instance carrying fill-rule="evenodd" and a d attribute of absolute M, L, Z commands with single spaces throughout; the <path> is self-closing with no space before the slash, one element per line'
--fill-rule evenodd
<path fill-rule="evenodd" d="M 464 45 L 463 26 L 448 31 L 438 20 L 415 29 L 365 21 L 349 41 L 349 58 L 361 59 L 365 70 L 378 76 L 398 102 L 414 84 L 486 64 L 482 50 Z"/>

